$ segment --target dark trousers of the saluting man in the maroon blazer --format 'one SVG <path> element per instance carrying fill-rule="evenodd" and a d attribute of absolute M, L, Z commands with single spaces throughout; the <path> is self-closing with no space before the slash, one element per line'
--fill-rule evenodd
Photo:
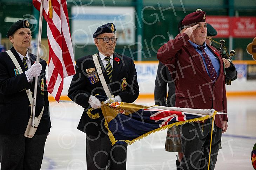
<path fill-rule="evenodd" d="M 204 123 L 186 123 L 180 126 L 183 159 L 181 170 L 207 170 L 211 139 L 211 119 Z M 203 128 L 203 131 L 202 131 Z M 218 150 L 221 149 L 222 129 L 214 125 L 210 170 L 214 170 Z"/>

